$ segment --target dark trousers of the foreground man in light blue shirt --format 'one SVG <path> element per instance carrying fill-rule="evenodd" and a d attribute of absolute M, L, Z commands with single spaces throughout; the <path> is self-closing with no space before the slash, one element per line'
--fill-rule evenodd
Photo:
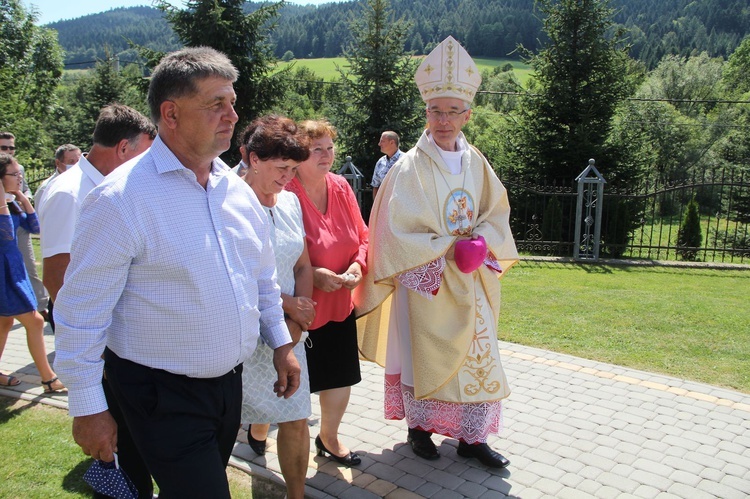
<path fill-rule="evenodd" d="M 104 361 L 123 423 L 159 486 L 159 498 L 229 499 L 226 466 L 240 426 L 242 364 L 218 378 L 190 378 L 109 349 Z"/>

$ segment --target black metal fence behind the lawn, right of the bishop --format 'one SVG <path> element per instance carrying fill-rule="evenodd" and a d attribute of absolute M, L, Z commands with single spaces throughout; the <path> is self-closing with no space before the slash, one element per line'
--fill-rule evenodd
<path fill-rule="evenodd" d="M 520 252 L 573 256 L 576 185 L 528 185 L 504 179 Z M 698 204 L 702 243 L 680 246 L 688 203 Z M 628 189 L 604 187 L 602 256 L 750 263 L 750 174 L 747 167 L 695 171 L 681 179 L 645 178 Z"/>

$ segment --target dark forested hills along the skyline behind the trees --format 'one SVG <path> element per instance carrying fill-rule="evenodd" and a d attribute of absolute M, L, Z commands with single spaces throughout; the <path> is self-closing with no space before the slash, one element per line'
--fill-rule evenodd
<path fill-rule="evenodd" d="M 259 5 L 248 2 L 247 9 Z M 534 0 L 392 0 L 391 5 L 413 23 L 406 49 L 417 54 L 429 52 L 448 34 L 479 57 L 518 57 L 519 44 L 536 51 L 544 40 Z M 649 68 L 667 54 L 705 51 L 726 59 L 750 33 L 747 0 L 612 0 L 611 5 L 616 27 L 628 33 L 631 56 Z M 360 9 L 357 1 L 286 5 L 272 34 L 276 55 L 341 55 L 349 21 Z M 102 59 L 107 50 L 121 54 L 128 49 L 128 39 L 156 50 L 171 50 L 177 43 L 161 12 L 151 7 L 114 9 L 49 27 L 59 33 L 69 68 Z"/>

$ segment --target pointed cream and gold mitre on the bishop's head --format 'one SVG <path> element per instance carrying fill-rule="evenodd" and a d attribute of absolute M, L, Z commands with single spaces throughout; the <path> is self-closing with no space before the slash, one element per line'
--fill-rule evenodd
<path fill-rule="evenodd" d="M 425 57 L 414 80 L 425 102 L 450 97 L 471 103 L 482 76 L 466 49 L 449 36 Z"/>

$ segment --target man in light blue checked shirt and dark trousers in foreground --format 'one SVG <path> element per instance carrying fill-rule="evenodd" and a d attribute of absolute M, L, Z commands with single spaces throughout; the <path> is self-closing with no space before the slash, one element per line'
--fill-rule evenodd
<path fill-rule="evenodd" d="M 158 136 L 86 198 L 55 307 L 55 367 L 76 442 L 112 461 L 117 424 L 127 424 L 164 498 L 230 497 L 242 362 L 261 322 L 275 350 L 274 391 L 289 397 L 299 386 L 267 217 L 218 158 L 238 119 L 236 79 L 207 47 L 168 54 L 154 69 Z"/>

